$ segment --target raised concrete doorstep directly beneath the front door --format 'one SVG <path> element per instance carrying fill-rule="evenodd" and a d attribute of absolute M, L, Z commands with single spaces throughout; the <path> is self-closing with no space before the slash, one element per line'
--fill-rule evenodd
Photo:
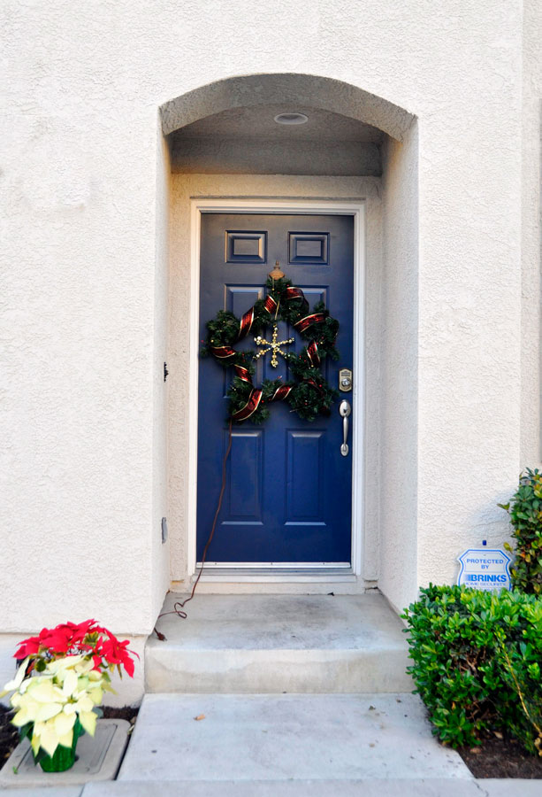
<path fill-rule="evenodd" d="M 170 593 L 163 611 L 183 596 Z M 197 595 L 145 648 L 148 693 L 409 692 L 401 620 L 378 593 Z"/>

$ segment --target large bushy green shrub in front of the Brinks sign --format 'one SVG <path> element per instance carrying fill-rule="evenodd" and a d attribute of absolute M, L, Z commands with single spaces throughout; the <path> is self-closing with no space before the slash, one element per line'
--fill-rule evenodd
<path fill-rule="evenodd" d="M 430 584 L 402 616 L 408 672 L 441 741 L 472 746 L 508 731 L 540 750 L 542 599 Z"/>

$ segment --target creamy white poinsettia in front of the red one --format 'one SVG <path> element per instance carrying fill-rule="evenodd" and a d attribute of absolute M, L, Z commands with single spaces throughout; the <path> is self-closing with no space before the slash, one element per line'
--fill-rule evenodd
<path fill-rule="evenodd" d="M 44 751 L 52 756 L 57 747 L 72 747 L 74 733 L 94 736 L 103 692 L 112 692 L 109 677 L 94 668 L 92 659 L 68 655 L 48 662 L 39 675 L 27 677 L 30 657 L 4 686 L 0 697 L 12 692 L 11 722 L 21 737 L 28 737 L 34 757 Z"/>

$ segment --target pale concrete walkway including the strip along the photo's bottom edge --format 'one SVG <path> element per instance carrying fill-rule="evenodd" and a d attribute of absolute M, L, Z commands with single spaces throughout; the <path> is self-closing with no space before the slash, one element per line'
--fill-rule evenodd
<path fill-rule="evenodd" d="M 434 739 L 410 693 L 149 694 L 117 780 L 0 790 L 1 797 L 541 794 L 539 780 L 472 778 Z"/>

